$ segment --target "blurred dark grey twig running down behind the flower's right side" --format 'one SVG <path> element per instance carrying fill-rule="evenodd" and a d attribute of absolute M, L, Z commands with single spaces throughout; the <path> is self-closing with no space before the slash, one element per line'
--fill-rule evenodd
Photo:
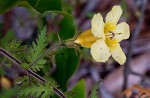
<path fill-rule="evenodd" d="M 131 73 L 130 60 L 132 58 L 133 48 L 135 47 L 135 39 L 138 37 L 138 35 L 141 31 L 141 28 L 142 28 L 142 23 L 143 23 L 143 20 L 144 20 L 144 11 L 145 11 L 145 8 L 146 8 L 146 4 L 147 4 L 147 0 L 143 0 L 143 6 L 141 8 L 141 17 L 138 21 L 138 24 L 136 26 L 136 29 L 135 29 L 134 33 L 132 33 L 132 35 L 130 37 L 127 61 L 125 63 L 125 67 L 124 67 L 124 84 L 123 84 L 122 90 L 125 90 L 127 88 L 128 74 Z"/>

